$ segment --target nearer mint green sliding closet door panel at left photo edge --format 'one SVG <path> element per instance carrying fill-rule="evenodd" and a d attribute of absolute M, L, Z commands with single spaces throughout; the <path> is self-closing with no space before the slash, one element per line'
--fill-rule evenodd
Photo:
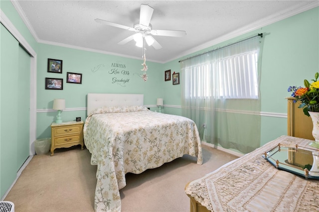
<path fill-rule="evenodd" d="M 0 25 L 0 194 L 16 178 L 19 43 Z"/>

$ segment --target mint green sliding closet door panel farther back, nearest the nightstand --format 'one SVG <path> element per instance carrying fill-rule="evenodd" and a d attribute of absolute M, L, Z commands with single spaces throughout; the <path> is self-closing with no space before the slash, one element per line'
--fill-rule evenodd
<path fill-rule="evenodd" d="M 29 134 L 30 134 L 30 55 L 19 46 L 17 78 L 17 170 L 29 157 Z"/>

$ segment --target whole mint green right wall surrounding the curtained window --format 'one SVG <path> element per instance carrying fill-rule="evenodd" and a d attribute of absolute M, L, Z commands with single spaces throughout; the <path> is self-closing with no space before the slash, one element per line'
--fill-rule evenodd
<path fill-rule="evenodd" d="M 206 48 L 216 49 L 258 33 L 264 33 L 261 100 L 262 112 L 287 113 L 290 85 L 303 86 L 319 71 L 319 7 L 254 30 L 234 39 Z M 183 59 L 180 58 L 180 59 Z M 180 59 L 163 65 L 163 70 L 179 72 Z M 164 82 L 164 104 L 180 105 L 180 86 Z M 165 108 L 166 113 L 181 114 L 180 108 Z M 287 118 L 262 117 L 261 145 L 287 134 Z"/>

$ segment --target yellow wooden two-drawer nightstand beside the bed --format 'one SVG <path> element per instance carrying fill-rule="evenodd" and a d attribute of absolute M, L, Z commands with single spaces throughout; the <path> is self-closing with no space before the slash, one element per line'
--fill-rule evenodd
<path fill-rule="evenodd" d="M 51 124 L 51 156 L 56 148 L 81 145 L 83 150 L 83 121 L 69 121 Z"/>

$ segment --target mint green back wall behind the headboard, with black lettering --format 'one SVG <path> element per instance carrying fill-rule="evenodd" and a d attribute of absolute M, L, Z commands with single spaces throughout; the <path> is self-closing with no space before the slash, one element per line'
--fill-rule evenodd
<path fill-rule="evenodd" d="M 143 73 L 142 58 L 129 59 L 46 44 L 38 44 L 37 55 L 37 109 L 52 109 L 56 98 L 65 99 L 66 110 L 83 108 L 86 107 L 88 93 L 144 94 L 144 104 L 154 106 L 156 99 L 163 96 L 163 72 L 159 63 L 146 62 L 148 80 L 144 82 L 140 77 Z M 48 58 L 62 60 L 62 74 L 47 72 Z M 112 64 L 125 65 L 125 68 L 115 68 Z M 120 73 L 115 74 L 113 69 Z M 123 70 L 127 74 L 122 74 Z M 66 83 L 67 72 L 82 74 L 82 84 Z M 128 82 L 113 83 L 114 77 Z M 45 90 L 45 78 L 62 78 L 63 90 Z M 37 138 L 51 137 L 50 124 L 55 115 L 55 111 L 37 113 Z M 86 111 L 62 112 L 63 121 L 75 120 L 75 117 L 85 120 Z"/>

